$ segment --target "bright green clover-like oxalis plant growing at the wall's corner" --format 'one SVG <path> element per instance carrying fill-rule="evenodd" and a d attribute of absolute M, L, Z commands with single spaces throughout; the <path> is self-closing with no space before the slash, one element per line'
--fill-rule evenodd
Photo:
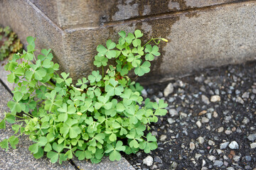
<path fill-rule="evenodd" d="M 4 113 L 0 128 L 6 128 L 6 121 L 16 124 L 12 125 L 14 135 L 0 146 L 6 151 L 9 145 L 16 149 L 18 137 L 28 135 L 33 141 L 28 149 L 36 159 L 46 153 L 50 162 L 60 164 L 73 157 L 96 164 L 104 155 L 118 161 L 120 152 L 156 149 L 156 137 L 144 131 L 156 123 L 156 116 L 166 115 L 167 104 L 144 101 L 143 88 L 127 74 L 132 70 L 139 77 L 148 73 L 149 61 L 160 55 L 156 45 L 167 40 L 151 38 L 149 42 L 156 45 L 142 45 L 142 35 L 140 30 L 121 31 L 117 44 L 107 40 L 106 47 L 98 45 L 94 64 L 102 72 L 92 71 L 77 84 L 69 73 L 56 72 L 59 65 L 52 62 L 50 50 L 43 49 L 36 57 L 35 38 L 28 37 L 27 51 L 14 55 L 5 66 L 11 72 L 8 81 L 17 86 L 8 102 L 11 112 Z M 18 64 L 18 59 L 23 62 Z M 116 64 L 107 67 L 109 60 Z"/>

